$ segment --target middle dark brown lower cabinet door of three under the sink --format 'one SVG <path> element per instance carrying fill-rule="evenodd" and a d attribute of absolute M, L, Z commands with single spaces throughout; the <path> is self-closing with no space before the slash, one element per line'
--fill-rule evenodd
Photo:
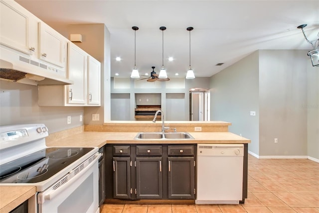
<path fill-rule="evenodd" d="M 136 198 L 162 199 L 161 157 L 136 158 Z"/>

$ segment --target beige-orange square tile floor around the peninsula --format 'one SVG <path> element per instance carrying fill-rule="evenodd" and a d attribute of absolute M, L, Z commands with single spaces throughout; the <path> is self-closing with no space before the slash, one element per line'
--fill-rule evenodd
<path fill-rule="evenodd" d="M 319 213 L 319 163 L 249 155 L 245 204 L 105 204 L 100 213 Z"/>

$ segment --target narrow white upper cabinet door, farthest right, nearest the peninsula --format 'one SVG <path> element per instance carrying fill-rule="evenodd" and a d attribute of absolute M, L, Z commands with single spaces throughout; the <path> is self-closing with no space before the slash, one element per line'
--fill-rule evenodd
<path fill-rule="evenodd" d="M 88 56 L 88 102 L 89 105 L 101 105 L 101 63 Z"/>

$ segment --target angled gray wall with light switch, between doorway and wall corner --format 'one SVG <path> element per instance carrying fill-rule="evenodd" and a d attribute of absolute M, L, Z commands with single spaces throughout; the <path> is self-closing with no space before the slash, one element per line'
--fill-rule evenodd
<path fill-rule="evenodd" d="M 231 122 L 229 131 L 249 138 L 259 154 L 258 51 L 211 77 L 210 120 Z M 251 116 L 250 111 L 256 111 Z"/>

